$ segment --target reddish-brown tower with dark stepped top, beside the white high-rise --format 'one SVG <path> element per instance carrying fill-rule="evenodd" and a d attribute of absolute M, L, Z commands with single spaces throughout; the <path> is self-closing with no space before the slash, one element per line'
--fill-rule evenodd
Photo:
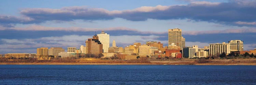
<path fill-rule="evenodd" d="M 99 37 L 94 35 L 93 38 L 88 38 L 86 41 L 86 53 L 87 54 L 100 54 L 103 53 L 102 44 L 99 41 Z"/>

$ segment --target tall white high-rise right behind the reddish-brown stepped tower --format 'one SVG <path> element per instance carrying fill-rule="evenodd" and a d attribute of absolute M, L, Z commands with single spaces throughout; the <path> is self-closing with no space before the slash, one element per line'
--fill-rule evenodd
<path fill-rule="evenodd" d="M 109 34 L 104 33 L 102 30 L 100 34 L 98 34 L 99 41 L 103 45 L 103 52 L 108 53 L 109 51 Z"/>

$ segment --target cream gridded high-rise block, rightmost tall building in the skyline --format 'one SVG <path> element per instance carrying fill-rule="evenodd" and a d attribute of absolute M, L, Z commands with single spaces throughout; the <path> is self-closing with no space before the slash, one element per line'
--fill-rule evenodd
<path fill-rule="evenodd" d="M 244 50 L 244 45 L 243 41 L 241 40 L 230 40 L 228 41 L 230 44 L 230 51 L 243 51 Z"/>

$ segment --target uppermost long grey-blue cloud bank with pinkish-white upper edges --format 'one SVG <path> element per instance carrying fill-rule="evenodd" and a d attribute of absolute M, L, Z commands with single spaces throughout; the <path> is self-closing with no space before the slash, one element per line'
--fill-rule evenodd
<path fill-rule="evenodd" d="M 60 9 L 52 8 L 24 8 L 20 11 L 22 17 L 1 16 L 1 24 L 42 23 L 45 21 L 73 21 L 82 20 L 110 20 L 123 18 L 131 21 L 145 21 L 147 19 L 190 19 L 208 21 L 236 26 L 255 26 L 256 1 L 231 0 L 230 2 L 191 1 L 187 5 L 171 6 L 142 6 L 132 10 L 109 11 L 103 8 L 89 8 L 87 6 L 71 6 Z M 6 26 L 6 25 L 5 25 Z"/>

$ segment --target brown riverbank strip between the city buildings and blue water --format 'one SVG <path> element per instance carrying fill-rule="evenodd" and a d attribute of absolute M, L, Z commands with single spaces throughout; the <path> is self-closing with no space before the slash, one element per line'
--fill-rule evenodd
<path fill-rule="evenodd" d="M 74 61 L 74 60 L 73 60 Z M 148 61 L 148 63 L 133 63 L 119 60 L 77 59 L 74 63 L 43 62 L 43 63 L 0 63 L 0 65 L 256 65 L 256 59 L 230 59 L 230 60 L 168 60 Z"/>

